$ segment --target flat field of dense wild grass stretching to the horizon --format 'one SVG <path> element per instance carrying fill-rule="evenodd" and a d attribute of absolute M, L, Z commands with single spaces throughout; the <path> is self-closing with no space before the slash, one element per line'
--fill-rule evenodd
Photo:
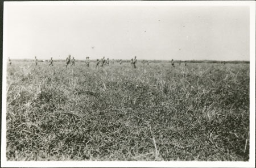
<path fill-rule="evenodd" d="M 9 161 L 248 161 L 249 64 L 7 66 Z"/>

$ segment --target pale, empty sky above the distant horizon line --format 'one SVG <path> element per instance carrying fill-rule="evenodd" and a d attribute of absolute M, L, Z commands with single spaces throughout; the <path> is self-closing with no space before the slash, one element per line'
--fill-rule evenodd
<path fill-rule="evenodd" d="M 5 4 L 7 57 L 250 58 L 248 6 L 99 4 Z"/>

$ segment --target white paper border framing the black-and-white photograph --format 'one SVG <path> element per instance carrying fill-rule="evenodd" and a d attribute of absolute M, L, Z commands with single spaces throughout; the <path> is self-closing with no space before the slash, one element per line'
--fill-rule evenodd
<path fill-rule="evenodd" d="M 7 161 L 6 159 L 6 74 L 7 10 L 11 5 L 172 5 L 250 7 L 250 159 L 247 162 L 209 161 Z M 255 167 L 255 1 L 28 1 L 4 2 L 2 66 L 2 167 Z"/>

